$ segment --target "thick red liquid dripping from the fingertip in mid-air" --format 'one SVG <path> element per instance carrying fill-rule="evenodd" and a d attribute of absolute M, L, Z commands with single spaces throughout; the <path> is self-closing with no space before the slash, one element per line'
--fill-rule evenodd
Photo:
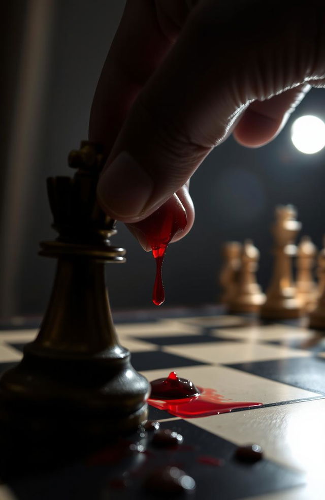
<path fill-rule="evenodd" d="M 183 231 L 186 225 L 186 212 L 176 195 L 144 221 L 130 225 L 137 232 L 140 231 L 141 240 L 152 249 L 152 255 L 156 260 L 156 278 L 152 294 L 152 301 L 155 305 L 161 305 L 165 301 L 161 266 L 167 246 L 175 234 Z"/>

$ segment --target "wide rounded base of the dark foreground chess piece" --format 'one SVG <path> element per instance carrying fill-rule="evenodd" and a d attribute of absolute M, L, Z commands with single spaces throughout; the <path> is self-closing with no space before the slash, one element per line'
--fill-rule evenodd
<path fill-rule="evenodd" d="M 123 348 L 100 354 L 62 354 L 25 346 L 23 360 L 0 381 L 0 422 L 21 433 L 109 438 L 147 419 L 147 380 Z M 0 426 L 1 427 L 1 426 Z"/>

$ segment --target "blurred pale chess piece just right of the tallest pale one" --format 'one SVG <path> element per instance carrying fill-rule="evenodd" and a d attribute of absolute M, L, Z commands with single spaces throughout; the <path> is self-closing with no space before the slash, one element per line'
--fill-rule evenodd
<path fill-rule="evenodd" d="M 311 311 L 316 306 L 317 287 L 313 278 L 313 268 L 317 248 L 309 236 L 303 236 L 297 251 L 297 296 L 304 311 Z"/>

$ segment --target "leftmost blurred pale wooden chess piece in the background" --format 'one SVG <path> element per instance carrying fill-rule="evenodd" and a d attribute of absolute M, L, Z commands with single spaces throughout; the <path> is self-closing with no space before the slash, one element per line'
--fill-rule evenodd
<path fill-rule="evenodd" d="M 236 292 L 241 246 L 242 245 L 238 241 L 227 241 L 222 247 L 223 265 L 219 278 L 220 285 L 223 289 L 220 297 L 222 304 L 228 305 Z"/>

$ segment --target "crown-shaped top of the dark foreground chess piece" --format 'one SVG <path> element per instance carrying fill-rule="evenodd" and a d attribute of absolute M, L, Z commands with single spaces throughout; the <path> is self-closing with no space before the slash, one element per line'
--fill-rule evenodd
<path fill-rule="evenodd" d="M 80 150 L 70 152 L 68 163 L 70 167 L 77 169 L 74 177 L 57 176 L 47 179 L 53 215 L 52 227 L 58 233 L 58 243 L 54 247 L 50 246 L 55 251 L 59 252 L 61 249 L 62 252 L 67 252 L 68 244 L 74 243 L 75 254 L 83 254 L 91 246 L 93 252 L 105 252 L 110 247 L 111 252 L 106 253 L 107 260 L 124 262 L 124 249 L 110 245 L 109 238 L 116 234 L 115 221 L 104 213 L 96 200 L 96 186 L 105 163 L 102 147 L 82 141 Z M 41 243 L 41 246 L 43 254 L 49 252 L 46 243 Z"/>

